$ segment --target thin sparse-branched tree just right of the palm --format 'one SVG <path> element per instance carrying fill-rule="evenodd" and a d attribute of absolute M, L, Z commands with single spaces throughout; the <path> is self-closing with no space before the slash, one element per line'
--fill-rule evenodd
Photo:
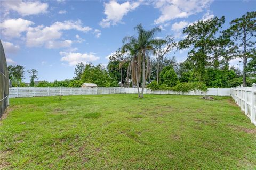
<path fill-rule="evenodd" d="M 172 36 L 166 36 L 165 39 L 163 40 L 160 39 L 155 44 L 155 53 L 157 56 L 157 75 L 156 75 L 157 84 L 159 81 L 159 73 L 163 69 L 164 56 L 168 54 L 176 45 L 177 43 L 174 42 L 174 37 Z"/>

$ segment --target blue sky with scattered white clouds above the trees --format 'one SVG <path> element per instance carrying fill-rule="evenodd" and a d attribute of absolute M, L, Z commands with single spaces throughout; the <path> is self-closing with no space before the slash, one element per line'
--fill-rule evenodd
<path fill-rule="evenodd" d="M 78 62 L 108 63 L 108 55 L 122 46 L 122 38 L 161 27 L 158 37 L 173 35 L 197 20 L 225 16 L 232 19 L 255 10 L 256 1 L 0 1 L 0 39 L 7 63 L 37 69 L 39 80 L 71 79 Z M 170 53 L 177 61 L 187 51 Z M 230 62 L 237 65 L 238 60 Z M 26 73 L 25 82 L 29 82 Z"/>

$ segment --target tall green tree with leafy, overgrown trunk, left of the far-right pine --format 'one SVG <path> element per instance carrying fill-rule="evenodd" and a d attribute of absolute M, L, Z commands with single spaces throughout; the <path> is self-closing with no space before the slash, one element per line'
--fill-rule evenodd
<path fill-rule="evenodd" d="M 194 74 L 198 78 L 197 81 L 205 82 L 205 69 L 212 64 L 210 56 L 213 47 L 219 43 L 215 35 L 224 22 L 224 16 L 215 17 L 207 21 L 198 21 L 183 30 L 187 37 L 179 42 L 179 49 L 191 48 L 188 58 L 194 64 Z"/>

